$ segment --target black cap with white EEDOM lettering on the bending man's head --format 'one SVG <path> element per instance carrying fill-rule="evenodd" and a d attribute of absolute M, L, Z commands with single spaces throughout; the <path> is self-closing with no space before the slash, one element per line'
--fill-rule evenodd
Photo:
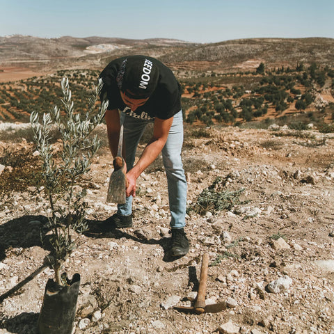
<path fill-rule="evenodd" d="M 132 99 L 146 99 L 154 92 L 159 68 L 152 58 L 130 56 L 122 62 L 116 80 L 120 91 Z"/>

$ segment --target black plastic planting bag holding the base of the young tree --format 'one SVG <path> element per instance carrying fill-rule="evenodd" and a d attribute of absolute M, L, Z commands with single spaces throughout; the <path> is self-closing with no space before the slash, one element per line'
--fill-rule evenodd
<path fill-rule="evenodd" d="M 80 275 L 75 273 L 67 285 L 58 285 L 49 279 L 38 318 L 40 334 L 72 334 L 77 310 Z"/>

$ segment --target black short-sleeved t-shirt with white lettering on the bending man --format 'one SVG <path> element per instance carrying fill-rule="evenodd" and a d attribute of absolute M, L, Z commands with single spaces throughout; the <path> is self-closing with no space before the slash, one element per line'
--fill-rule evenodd
<path fill-rule="evenodd" d="M 171 118 L 181 110 L 181 89 L 180 84 L 175 79 L 173 72 L 163 63 L 152 57 L 146 57 L 149 61 L 159 67 L 159 79 L 157 87 L 143 106 L 132 111 L 120 97 L 116 77 L 122 61 L 126 58 L 136 56 L 128 56 L 115 59 L 107 65 L 100 74 L 103 81 L 103 87 L 100 94 L 101 100 L 109 101 L 108 109 L 119 109 L 130 116 L 145 120 L 153 119 L 154 117 L 166 120 Z"/>

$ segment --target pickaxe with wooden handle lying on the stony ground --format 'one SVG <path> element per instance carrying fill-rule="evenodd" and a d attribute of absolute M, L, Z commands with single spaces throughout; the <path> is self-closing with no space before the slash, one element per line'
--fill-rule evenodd
<path fill-rule="evenodd" d="M 209 255 L 205 253 L 202 256 L 202 267 L 200 268 L 200 285 L 198 287 L 198 293 L 196 301 L 193 306 L 174 306 L 176 310 L 182 312 L 195 312 L 200 315 L 204 312 L 207 313 L 216 313 L 221 310 L 226 310 L 226 303 L 216 303 L 205 305 L 205 294 L 207 291 L 207 269 L 209 267 Z"/>

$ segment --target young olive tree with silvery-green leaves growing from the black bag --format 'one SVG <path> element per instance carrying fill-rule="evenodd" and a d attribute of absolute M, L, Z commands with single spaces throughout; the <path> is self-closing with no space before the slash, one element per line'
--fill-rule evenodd
<path fill-rule="evenodd" d="M 101 146 L 97 136 L 91 134 L 102 121 L 108 106 L 108 102 L 97 104 L 101 88 L 100 79 L 88 101 L 88 111 L 84 115 L 74 113 L 68 79 L 63 78 L 63 112 L 54 106 L 49 113 L 43 113 L 41 122 L 37 111 L 30 117 L 33 141 L 42 160 L 44 194 L 51 209 L 50 263 L 55 271 L 55 281 L 60 285 L 65 283 L 61 276 L 63 264 L 76 245 L 74 231 L 82 233 L 88 228 L 85 218 L 87 203 L 84 201 L 86 189 L 82 189 L 80 184 Z M 51 145 L 51 130 L 54 128 L 61 138 L 58 154 Z"/>

